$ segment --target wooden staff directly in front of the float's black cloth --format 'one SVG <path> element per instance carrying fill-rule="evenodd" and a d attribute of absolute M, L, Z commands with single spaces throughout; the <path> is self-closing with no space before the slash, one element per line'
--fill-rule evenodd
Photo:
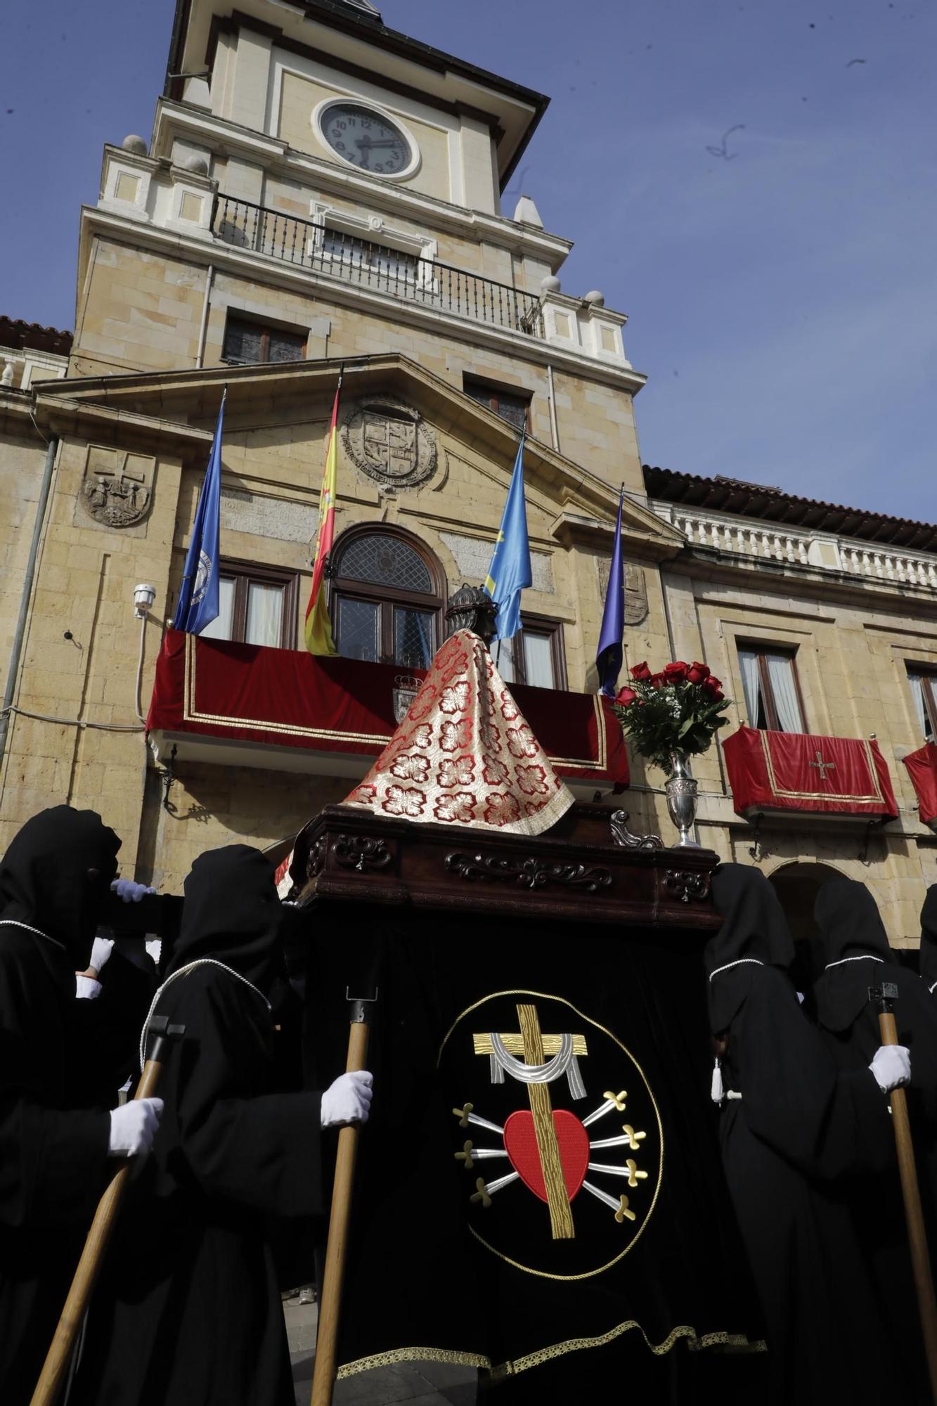
<path fill-rule="evenodd" d="M 356 1074 L 367 1064 L 367 1040 L 370 1036 L 370 1007 L 374 995 L 352 1000 L 352 1025 L 348 1036 L 346 1074 Z M 322 1275 L 322 1298 L 319 1301 L 319 1329 L 315 1339 L 315 1368 L 312 1371 L 311 1406 L 332 1406 L 335 1391 L 335 1355 L 338 1351 L 338 1330 L 342 1312 L 342 1284 L 345 1281 L 345 1258 L 348 1254 L 348 1227 L 352 1219 L 352 1185 L 357 1157 L 360 1128 L 342 1128 L 335 1159 L 335 1182 L 332 1185 L 332 1212 L 329 1215 L 329 1239 L 325 1247 L 325 1272 Z"/>

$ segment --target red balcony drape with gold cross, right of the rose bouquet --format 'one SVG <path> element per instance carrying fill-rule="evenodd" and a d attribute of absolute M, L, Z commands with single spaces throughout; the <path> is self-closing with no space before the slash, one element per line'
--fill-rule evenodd
<path fill-rule="evenodd" d="M 875 741 L 741 727 L 722 747 L 739 815 L 761 810 L 898 815 Z"/>

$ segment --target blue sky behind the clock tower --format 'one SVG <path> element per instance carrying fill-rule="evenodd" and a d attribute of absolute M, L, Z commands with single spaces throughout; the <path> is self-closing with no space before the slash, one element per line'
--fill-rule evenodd
<path fill-rule="evenodd" d="M 0 311 L 73 325 L 79 205 L 149 134 L 172 11 L 0 10 Z M 937 520 L 934 0 L 383 14 L 552 96 L 505 212 L 530 194 L 575 239 L 564 290 L 627 312 L 647 461 Z"/>

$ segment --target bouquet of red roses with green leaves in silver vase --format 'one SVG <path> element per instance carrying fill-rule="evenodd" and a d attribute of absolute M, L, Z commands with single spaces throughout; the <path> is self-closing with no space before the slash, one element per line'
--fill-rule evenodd
<path fill-rule="evenodd" d="M 705 664 L 675 659 L 651 673 L 644 662 L 630 675 L 632 688 L 619 689 L 612 706 L 642 756 L 670 776 L 674 752 L 698 756 L 709 751 L 716 731 L 729 721 L 729 699 Z"/>

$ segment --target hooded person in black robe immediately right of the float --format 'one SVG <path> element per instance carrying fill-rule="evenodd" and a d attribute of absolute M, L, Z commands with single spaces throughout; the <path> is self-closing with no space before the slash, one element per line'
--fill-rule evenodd
<path fill-rule="evenodd" d="M 888 1156 L 886 1102 L 868 1070 L 837 1073 L 802 1014 L 786 974 L 793 942 L 768 880 L 722 865 L 713 900 L 723 925 L 706 948 L 709 1018 L 727 1040 L 722 1156 L 767 1319 L 771 1400 L 874 1402 L 891 1381 L 884 1331 L 836 1182 Z"/>

